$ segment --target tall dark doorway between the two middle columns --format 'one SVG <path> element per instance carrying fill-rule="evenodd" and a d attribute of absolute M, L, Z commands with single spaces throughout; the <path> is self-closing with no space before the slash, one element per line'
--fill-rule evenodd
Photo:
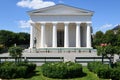
<path fill-rule="evenodd" d="M 57 47 L 64 47 L 64 31 L 57 31 Z"/>

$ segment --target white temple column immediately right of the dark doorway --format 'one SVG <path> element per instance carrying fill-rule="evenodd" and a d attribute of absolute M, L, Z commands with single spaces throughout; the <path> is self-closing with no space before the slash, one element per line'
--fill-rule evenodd
<path fill-rule="evenodd" d="M 69 47 L 69 23 L 64 23 L 64 47 Z"/>

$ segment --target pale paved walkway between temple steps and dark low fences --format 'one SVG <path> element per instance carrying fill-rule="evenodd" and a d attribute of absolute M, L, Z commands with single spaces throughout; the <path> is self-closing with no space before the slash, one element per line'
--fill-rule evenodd
<path fill-rule="evenodd" d="M 9 53 L 0 54 L 8 57 Z M 75 57 L 97 57 L 96 53 L 23 53 L 23 57 L 64 57 L 65 61 L 74 61 Z"/>

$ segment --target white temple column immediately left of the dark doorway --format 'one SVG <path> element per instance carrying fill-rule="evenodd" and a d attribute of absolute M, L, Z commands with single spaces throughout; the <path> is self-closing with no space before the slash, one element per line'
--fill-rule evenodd
<path fill-rule="evenodd" d="M 57 23 L 53 23 L 52 47 L 57 47 Z"/>

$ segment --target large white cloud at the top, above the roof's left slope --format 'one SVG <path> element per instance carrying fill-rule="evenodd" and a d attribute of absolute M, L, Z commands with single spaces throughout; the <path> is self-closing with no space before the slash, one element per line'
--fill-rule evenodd
<path fill-rule="evenodd" d="M 21 0 L 17 3 L 17 6 L 32 8 L 32 9 L 39 9 L 52 5 L 55 5 L 55 3 L 52 1 L 43 1 L 43 0 Z"/>

